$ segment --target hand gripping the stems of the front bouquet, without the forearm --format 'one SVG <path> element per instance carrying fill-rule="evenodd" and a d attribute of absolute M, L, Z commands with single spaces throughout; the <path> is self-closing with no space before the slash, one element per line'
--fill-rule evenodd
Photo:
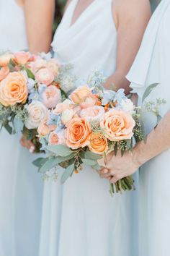
<path fill-rule="evenodd" d="M 109 153 L 106 163 L 104 163 L 104 160 L 98 161 L 99 165 L 102 166 L 99 174 L 102 178 L 109 179 L 110 182 L 115 183 L 138 170 L 140 163 L 135 159 L 130 151 L 125 152 L 123 156 L 120 151 L 117 152 L 117 155 Z"/>

